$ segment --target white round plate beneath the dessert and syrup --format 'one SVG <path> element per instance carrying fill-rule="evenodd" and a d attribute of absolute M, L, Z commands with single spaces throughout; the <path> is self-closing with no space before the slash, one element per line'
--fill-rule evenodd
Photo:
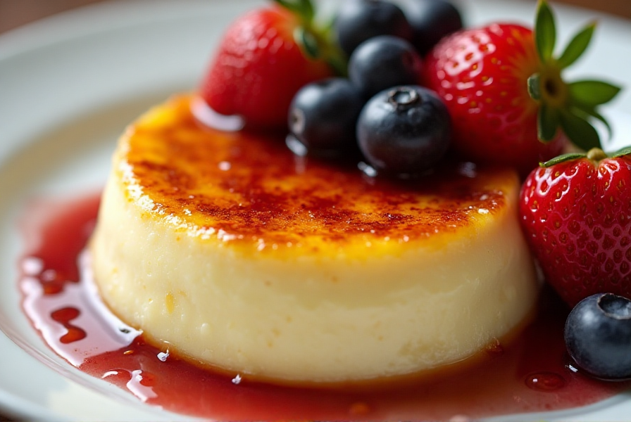
<path fill-rule="evenodd" d="M 125 124 L 175 91 L 194 89 L 219 34 L 258 1 L 127 0 L 89 6 L 0 36 L 0 408 L 42 420 L 182 420 L 85 376 L 49 350 L 20 309 L 15 226 L 29 198 L 93 192 Z M 463 2 L 468 23 L 520 20 L 534 2 Z M 599 17 L 594 46 L 573 73 L 629 84 L 631 24 L 556 8 L 561 37 Z M 618 145 L 631 143 L 631 89 L 616 100 Z M 625 420 L 619 395 L 586 409 L 532 415 Z M 523 420 L 524 416 L 518 416 Z M 503 418 L 506 420 L 506 418 Z"/>

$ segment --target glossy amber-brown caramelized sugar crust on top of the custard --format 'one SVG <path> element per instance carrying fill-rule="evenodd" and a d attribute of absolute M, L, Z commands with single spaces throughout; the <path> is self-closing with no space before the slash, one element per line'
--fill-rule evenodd
<path fill-rule="evenodd" d="M 356 165 L 300 158 L 283 136 L 204 127 L 191 101 L 171 98 L 130 127 L 118 169 L 130 200 L 201 241 L 396 253 L 396 245 L 436 247 L 480 229 L 517 194 L 512 171 L 468 163 L 408 181 L 370 178 Z"/>

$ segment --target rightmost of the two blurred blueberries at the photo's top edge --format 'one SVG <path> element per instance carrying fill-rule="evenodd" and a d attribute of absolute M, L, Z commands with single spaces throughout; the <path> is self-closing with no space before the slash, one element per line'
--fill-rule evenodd
<path fill-rule="evenodd" d="M 460 12 L 450 1 L 411 0 L 402 7 L 412 26 L 413 44 L 421 55 L 430 51 L 440 39 L 463 27 Z"/>

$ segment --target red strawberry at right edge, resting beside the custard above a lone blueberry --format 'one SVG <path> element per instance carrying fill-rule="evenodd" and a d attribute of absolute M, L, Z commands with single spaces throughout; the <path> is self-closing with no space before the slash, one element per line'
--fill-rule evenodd
<path fill-rule="evenodd" d="M 568 305 L 631 298 L 631 147 L 566 154 L 525 180 L 520 221 L 547 281 Z"/>

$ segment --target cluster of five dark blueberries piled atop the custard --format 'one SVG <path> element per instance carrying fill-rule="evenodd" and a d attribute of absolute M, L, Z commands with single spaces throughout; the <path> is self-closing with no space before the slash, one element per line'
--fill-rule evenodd
<path fill-rule="evenodd" d="M 439 25 L 442 19 L 454 25 Z M 332 38 L 348 58 L 348 77 L 313 82 L 296 93 L 290 142 L 314 155 L 352 155 L 359 148 L 385 174 L 436 165 L 449 148 L 451 120 L 438 96 L 420 87 L 428 41 L 419 34 L 438 40 L 461 26 L 458 10 L 443 0 L 418 1 L 406 12 L 388 1 L 346 1 Z"/>

